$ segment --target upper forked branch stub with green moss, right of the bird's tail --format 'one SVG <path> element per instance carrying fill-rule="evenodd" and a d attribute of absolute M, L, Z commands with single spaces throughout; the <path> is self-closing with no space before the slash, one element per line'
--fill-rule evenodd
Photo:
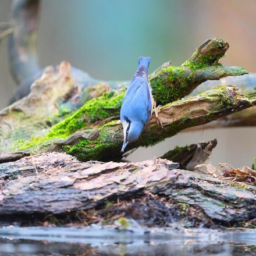
<path fill-rule="evenodd" d="M 218 38 L 206 40 L 188 61 L 181 66 L 164 63 L 150 75 L 155 100 L 165 105 L 191 93 L 195 87 L 207 80 L 218 80 L 226 76 L 248 73 L 242 67 L 227 67 L 219 64 L 229 44 Z"/>

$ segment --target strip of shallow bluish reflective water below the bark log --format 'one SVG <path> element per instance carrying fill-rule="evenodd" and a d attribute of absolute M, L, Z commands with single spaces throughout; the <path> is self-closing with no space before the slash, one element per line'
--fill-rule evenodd
<path fill-rule="evenodd" d="M 6 227 L 0 255 L 256 255 L 256 230 L 118 231 L 100 227 Z"/>

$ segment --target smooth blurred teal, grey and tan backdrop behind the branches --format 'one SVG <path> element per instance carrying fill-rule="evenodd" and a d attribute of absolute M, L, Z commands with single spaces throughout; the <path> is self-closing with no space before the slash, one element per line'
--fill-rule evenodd
<path fill-rule="evenodd" d="M 10 3 L 1 0 L 0 22 L 8 20 Z M 38 55 L 43 67 L 66 60 L 98 79 L 129 80 L 138 56 L 151 56 L 152 72 L 166 61 L 180 65 L 202 41 L 219 37 L 230 44 L 223 64 L 256 72 L 255 10 L 255 0 L 42 0 Z M 5 40 L 0 48 L 0 108 L 15 90 L 6 51 Z M 217 137 L 221 145 L 213 162 L 250 165 L 256 153 L 254 134 L 254 128 L 181 133 L 147 154 L 139 150 L 132 159 L 158 157 L 176 144 Z"/>

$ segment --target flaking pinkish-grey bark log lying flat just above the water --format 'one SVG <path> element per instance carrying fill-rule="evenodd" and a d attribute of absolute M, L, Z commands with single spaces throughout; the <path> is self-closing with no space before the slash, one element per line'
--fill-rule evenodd
<path fill-rule="evenodd" d="M 256 217 L 256 187 L 238 189 L 229 180 L 177 167 L 166 159 L 102 163 L 61 153 L 24 157 L 0 165 L 0 215 L 67 214 L 150 193 L 155 200 L 193 205 L 223 225 Z"/>

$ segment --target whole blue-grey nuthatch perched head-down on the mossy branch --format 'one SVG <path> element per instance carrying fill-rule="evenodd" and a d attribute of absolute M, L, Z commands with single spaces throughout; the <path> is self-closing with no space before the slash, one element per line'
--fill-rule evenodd
<path fill-rule="evenodd" d="M 150 57 L 138 59 L 138 70 L 123 98 L 120 120 L 123 125 L 124 141 L 121 152 L 125 151 L 127 144 L 137 140 L 152 115 L 153 98 L 147 77 L 149 65 Z"/>

